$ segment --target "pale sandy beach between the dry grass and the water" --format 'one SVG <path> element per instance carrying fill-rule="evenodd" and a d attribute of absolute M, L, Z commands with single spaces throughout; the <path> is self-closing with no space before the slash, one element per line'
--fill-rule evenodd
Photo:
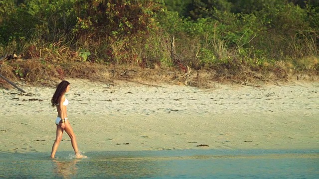
<path fill-rule="evenodd" d="M 79 149 L 319 149 L 319 83 L 212 89 L 67 79 Z M 0 151 L 51 152 L 54 88 L 0 89 Z M 63 135 L 59 151 L 72 151 Z"/>

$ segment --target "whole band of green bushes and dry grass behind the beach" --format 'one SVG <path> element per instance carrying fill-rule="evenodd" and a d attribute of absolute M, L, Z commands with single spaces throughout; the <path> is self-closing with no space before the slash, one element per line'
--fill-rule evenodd
<path fill-rule="evenodd" d="M 196 86 L 203 72 L 238 82 L 319 75 L 318 0 L 0 0 L 0 7 L 0 59 L 23 59 L 0 61 L 11 80 L 102 80 L 128 69 L 141 73 L 126 78 L 160 71 L 174 80 L 187 66 Z"/>

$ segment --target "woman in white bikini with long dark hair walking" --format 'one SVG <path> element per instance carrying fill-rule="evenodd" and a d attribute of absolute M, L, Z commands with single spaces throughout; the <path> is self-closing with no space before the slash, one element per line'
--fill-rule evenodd
<path fill-rule="evenodd" d="M 56 124 L 56 138 L 52 146 L 52 152 L 51 152 L 51 158 L 54 159 L 56 150 L 59 147 L 59 144 L 62 140 L 62 134 L 63 131 L 65 131 L 72 143 L 72 147 L 74 149 L 75 157 L 76 158 L 86 158 L 86 156 L 83 156 L 80 154 L 78 145 L 76 143 L 75 134 L 73 132 L 73 129 L 71 127 L 71 124 L 69 123 L 69 120 L 67 118 L 66 114 L 66 106 L 69 104 L 69 101 L 65 98 L 64 93 L 68 92 L 70 90 L 70 83 L 67 81 L 62 81 L 56 88 L 53 97 L 51 99 L 52 107 L 56 106 L 58 116 L 55 120 Z"/>

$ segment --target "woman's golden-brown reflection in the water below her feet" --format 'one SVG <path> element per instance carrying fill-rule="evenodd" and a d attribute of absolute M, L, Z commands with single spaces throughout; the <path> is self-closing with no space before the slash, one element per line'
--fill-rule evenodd
<path fill-rule="evenodd" d="M 78 170 L 78 168 L 76 167 L 76 163 L 78 161 L 79 160 L 77 159 L 73 159 L 70 161 L 53 160 L 53 162 L 55 163 L 54 173 L 64 179 L 75 177 Z"/>

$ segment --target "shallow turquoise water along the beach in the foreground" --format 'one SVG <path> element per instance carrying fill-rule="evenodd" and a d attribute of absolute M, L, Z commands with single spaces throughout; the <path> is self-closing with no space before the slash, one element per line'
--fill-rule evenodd
<path fill-rule="evenodd" d="M 0 152 L 0 178 L 318 179 L 319 150 L 173 150 L 12 154 Z"/>

